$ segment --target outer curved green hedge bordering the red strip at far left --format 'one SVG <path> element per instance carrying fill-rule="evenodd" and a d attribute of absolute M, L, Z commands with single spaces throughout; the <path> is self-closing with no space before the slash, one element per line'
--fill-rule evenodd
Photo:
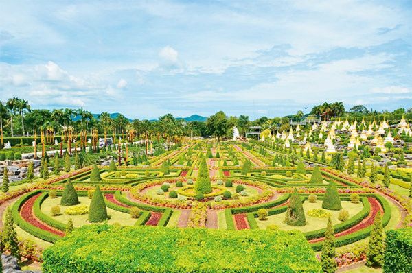
<path fill-rule="evenodd" d="M 31 193 L 27 193 L 26 195 L 23 195 L 19 200 L 17 200 L 12 206 L 13 219 L 16 225 L 23 229 L 25 232 L 30 233 L 34 237 L 38 237 L 39 239 L 42 239 L 44 241 L 54 243 L 61 237 L 53 233 L 49 233 L 48 231 L 45 231 L 41 228 L 37 228 L 36 226 L 32 226 L 32 224 L 25 222 L 25 220 L 23 220 L 20 215 L 20 209 L 21 206 L 23 206 L 24 202 L 39 193 L 41 193 L 41 191 L 32 191 Z"/>

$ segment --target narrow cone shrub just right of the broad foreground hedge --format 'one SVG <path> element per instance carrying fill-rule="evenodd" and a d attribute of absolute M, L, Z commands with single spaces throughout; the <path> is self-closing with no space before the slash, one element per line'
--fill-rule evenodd
<path fill-rule="evenodd" d="M 321 264 L 323 272 L 334 273 L 338 265 L 335 261 L 336 250 L 334 248 L 334 230 L 332 220 L 328 219 L 328 226 L 325 231 L 325 238 L 323 239 Z"/>

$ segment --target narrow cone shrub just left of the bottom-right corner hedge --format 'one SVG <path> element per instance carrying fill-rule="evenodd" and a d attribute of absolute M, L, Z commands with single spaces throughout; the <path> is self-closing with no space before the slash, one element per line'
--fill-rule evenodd
<path fill-rule="evenodd" d="M 374 220 L 374 225 L 372 226 L 369 244 L 367 245 L 366 265 L 381 267 L 384 251 L 382 217 L 380 211 L 378 211 Z"/>

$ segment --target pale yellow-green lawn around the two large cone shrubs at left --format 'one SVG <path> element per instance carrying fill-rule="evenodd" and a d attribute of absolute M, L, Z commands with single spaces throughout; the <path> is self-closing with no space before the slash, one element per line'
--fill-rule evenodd
<path fill-rule="evenodd" d="M 85 224 L 90 224 L 88 220 L 89 218 L 88 214 L 85 214 L 85 215 L 65 214 L 65 209 L 67 209 L 68 207 L 60 206 L 60 199 L 61 199 L 60 197 L 54 198 L 54 199 L 47 198 L 41 206 L 41 211 L 45 213 L 46 215 L 53 217 L 57 221 L 65 223 L 65 224 L 67 224 L 67 221 L 69 219 L 72 219 L 73 226 L 75 228 L 83 226 Z M 80 204 L 84 204 L 87 206 L 89 206 L 91 202 L 91 200 L 87 197 L 79 197 L 79 201 L 80 201 Z M 53 206 L 60 206 L 60 211 L 62 212 L 62 214 L 58 216 L 52 216 L 52 214 L 50 213 L 50 210 L 52 209 Z M 136 219 L 133 219 L 132 217 L 130 217 L 128 213 L 121 213 L 119 211 L 115 211 L 113 209 L 107 208 L 107 214 L 111 216 L 111 219 L 107 221 L 108 224 L 119 223 L 119 224 L 122 224 L 122 226 L 133 226 L 136 222 Z"/>

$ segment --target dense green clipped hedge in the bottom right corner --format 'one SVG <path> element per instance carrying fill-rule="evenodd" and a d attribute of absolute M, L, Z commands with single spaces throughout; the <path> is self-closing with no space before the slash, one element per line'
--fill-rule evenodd
<path fill-rule="evenodd" d="M 387 231 L 383 270 L 407 273 L 412 269 L 412 228 Z"/>

